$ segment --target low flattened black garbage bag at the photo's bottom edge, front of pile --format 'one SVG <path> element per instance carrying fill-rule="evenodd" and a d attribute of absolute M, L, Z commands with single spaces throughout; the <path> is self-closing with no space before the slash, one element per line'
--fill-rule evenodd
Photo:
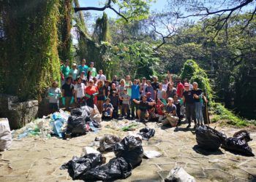
<path fill-rule="evenodd" d="M 84 181 L 114 181 L 132 174 L 132 166 L 122 157 L 110 159 L 106 165 L 95 167 L 83 174 Z"/>

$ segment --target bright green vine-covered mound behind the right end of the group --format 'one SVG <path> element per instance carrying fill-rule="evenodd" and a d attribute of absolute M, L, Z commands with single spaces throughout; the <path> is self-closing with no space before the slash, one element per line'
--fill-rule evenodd
<path fill-rule="evenodd" d="M 197 82 L 198 87 L 207 94 L 208 100 L 213 97 L 213 90 L 209 82 L 206 71 L 200 68 L 194 60 L 187 60 L 181 71 L 181 79 L 189 79 L 189 81 Z"/>

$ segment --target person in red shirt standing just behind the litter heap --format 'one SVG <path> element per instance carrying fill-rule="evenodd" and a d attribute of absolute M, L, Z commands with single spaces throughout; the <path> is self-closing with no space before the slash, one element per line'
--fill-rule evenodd
<path fill-rule="evenodd" d="M 87 106 L 94 108 L 94 104 L 96 104 L 95 95 L 98 94 L 98 88 L 94 86 L 94 81 L 90 80 L 85 92 Z"/>

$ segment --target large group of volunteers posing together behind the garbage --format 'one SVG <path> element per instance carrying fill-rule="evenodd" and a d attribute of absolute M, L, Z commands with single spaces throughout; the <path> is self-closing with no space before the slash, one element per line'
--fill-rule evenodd
<path fill-rule="evenodd" d="M 169 71 L 162 82 L 158 82 L 157 76 L 151 79 L 131 80 L 127 75 L 125 79 L 113 76 L 109 81 L 102 70 L 97 74 L 93 62 L 86 66 L 83 59 L 80 66 L 73 63 L 69 68 L 66 60 L 61 65 L 61 88 L 53 82 L 48 90 L 50 109 L 57 111 L 61 100 L 65 108 L 97 106 L 103 118 L 138 118 L 140 122 L 148 119 L 176 126 L 186 115 L 187 127 L 191 127 L 192 120 L 195 127 L 203 125 L 202 107 L 208 100 L 197 82 L 181 82 L 180 78 L 173 81 Z"/>

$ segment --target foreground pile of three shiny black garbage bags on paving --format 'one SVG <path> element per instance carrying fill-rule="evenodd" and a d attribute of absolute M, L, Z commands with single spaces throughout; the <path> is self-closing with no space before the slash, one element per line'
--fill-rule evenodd
<path fill-rule="evenodd" d="M 111 138 L 112 140 L 112 138 Z M 140 165 L 143 157 L 143 147 L 139 138 L 127 136 L 114 145 L 116 157 L 103 165 L 102 154 L 86 154 L 73 159 L 61 166 L 68 169 L 73 180 L 83 181 L 114 181 L 127 178 L 132 174 L 132 168 Z"/>

